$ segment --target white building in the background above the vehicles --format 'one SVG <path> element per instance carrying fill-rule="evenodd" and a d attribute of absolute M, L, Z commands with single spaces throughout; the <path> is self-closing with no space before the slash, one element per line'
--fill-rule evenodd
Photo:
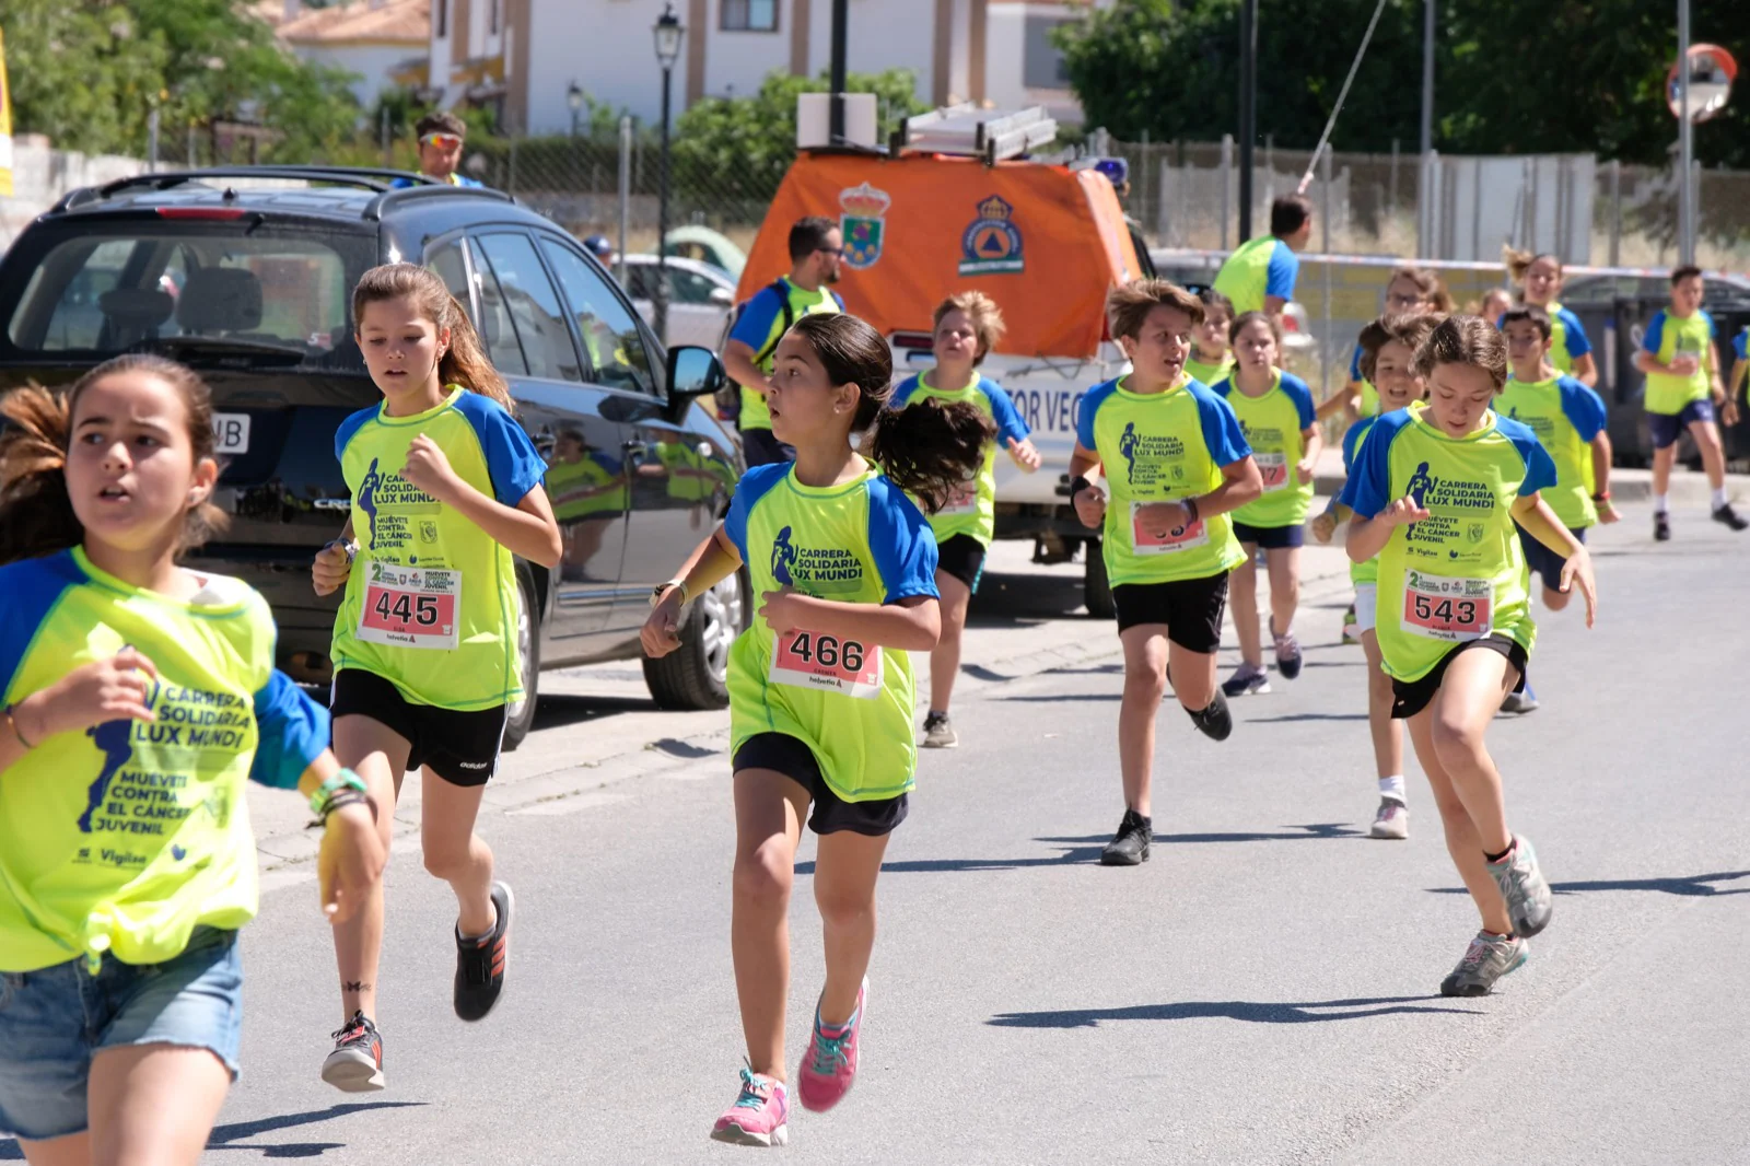
<path fill-rule="evenodd" d="M 394 0 L 388 0 L 394 2 Z M 849 68 L 908 68 L 931 105 L 1046 105 L 1080 121 L 1050 30 L 1111 0 L 849 0 Z M 443 103 L 502 102 L 530 133 L 570 128 L 572 84 L 654 121 L 662 72 L 651 26 L 663 0 L 429 0 L 429 88 Z M 674 0 L 686 26 L 674 112 L 705 96 L 746 96 L 772 70 L 828 68 L 831 0 Z"/>

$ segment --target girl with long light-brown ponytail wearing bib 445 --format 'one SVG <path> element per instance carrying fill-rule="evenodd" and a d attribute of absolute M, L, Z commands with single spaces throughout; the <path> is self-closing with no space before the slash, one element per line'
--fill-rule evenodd
<path fill-rule="evenodd" d="M 427 268 L 371 268 L 352 292 L 359 348 L 383 403 L 334 434 L 352 518 L 317 555 L 334 620 L 334 753 L 371 781 L 422 769 L 425 868 L 455 891 L 455 1014 L 478 1021 L 504 989 L 511 888 L 474 833 L 499 763 L 506 706 L 523 697 L 513 557 L 553 567 L 558 525 L 546 466 L 511 417 L 504 380 Z M 354 539 L 357 532 L 357 539 Z M 380 823 L 383 846 L 394 816 Z M 383 895 L 334 928 L 341 1028 L 322 1080 L 382 1089 L 376 1031 Z"/>

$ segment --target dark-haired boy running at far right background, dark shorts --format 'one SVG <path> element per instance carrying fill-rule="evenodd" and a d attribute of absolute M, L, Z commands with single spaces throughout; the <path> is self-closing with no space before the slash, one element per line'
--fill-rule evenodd
<path fill-rule="evenodd" d="M 1726 499 L 1726 446 L 1715 410 L 1726 404 L 1713 317 L 1701 310 L 1701 268 L 1671 271 L 1671 306 L 1657 312 L 1642 334 L 1634 368 L 1647 373 L 1647 427 L 1652 431 L 1652 536 L 1671 537 L 1671 466 L 1687 429 L 1713 487 L 1713 522 L 1732 530 L 1750 527 Z"/>

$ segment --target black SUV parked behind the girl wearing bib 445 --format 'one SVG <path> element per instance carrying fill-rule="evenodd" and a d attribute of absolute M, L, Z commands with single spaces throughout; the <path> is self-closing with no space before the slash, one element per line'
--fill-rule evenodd
<path fill-rule="evenodd" d="M 497 191 L 399 172 L 242 166 L 79 189 L 0 263 L 0 387 L 66 383 L 121 352 L 200 369 L 231 527 L 194 564 L 261 590 L 280 667 L 326 683 L 336 599 L 315 597 L 310 560 L 350 508 L 334 431 L 380 401 L 348 305 L 366 268 L 397 261 L 430 266 L 467 308 L 548 460 L 565 553 L 553 571 L 518 564 L 528 699 L 509 748 L 539 669 L 640 655 L 651 590 L 740 476 L 738 443 L 700 403 L 723 383 L 718 357 L 665 357 L 570 235 Z M 684 648 L 644 662 L 660 706 L 726 704 L 746 609 L 737 578 L 693 604 Z"/>

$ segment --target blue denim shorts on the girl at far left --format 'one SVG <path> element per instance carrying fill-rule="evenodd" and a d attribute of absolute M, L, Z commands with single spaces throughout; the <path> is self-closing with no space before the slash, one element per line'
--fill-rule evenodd
<path fill-rule="evenodd" d="M 236 931 L 196 928 L 182 954 L 133 965 L 84 958 L 0 972 L 0 1129 L 42 1141 L 86 1127 L 86 1080 L 103 1049 L 206 1049 L 236 1080 L 243 961 Z"/>

